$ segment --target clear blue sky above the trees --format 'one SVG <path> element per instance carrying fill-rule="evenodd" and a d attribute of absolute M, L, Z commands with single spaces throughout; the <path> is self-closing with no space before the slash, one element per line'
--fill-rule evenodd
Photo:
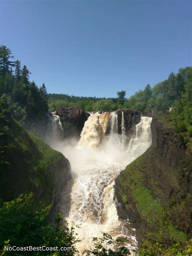
<path fill-rule="evenodd" d="M 127 97 L 192 65 L 191 1 L 0 0 L 0 43 L 49 93 Z"/>

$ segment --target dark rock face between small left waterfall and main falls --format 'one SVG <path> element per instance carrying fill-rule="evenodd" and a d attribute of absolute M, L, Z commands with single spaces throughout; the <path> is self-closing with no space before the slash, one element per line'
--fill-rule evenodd
<path fill-rule="evenodd" d="M 90 116 L 89 113 L 78 107 L 58 107 L 55 113 L 60 117 L 65 137 L 79 136 L 85 121 Z"/>

